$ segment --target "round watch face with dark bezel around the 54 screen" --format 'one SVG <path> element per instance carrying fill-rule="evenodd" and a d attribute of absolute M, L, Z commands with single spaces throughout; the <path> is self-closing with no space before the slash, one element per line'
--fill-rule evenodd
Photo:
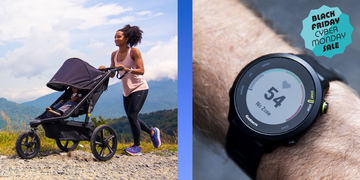
<path fill-rule="evenodd" d="M 313 109 L 315 86 L 299 62 L 273 57 L 242 71 L 234 105 L 242 122 L 263 134 L 282 134 L 300 125 Z"/>

